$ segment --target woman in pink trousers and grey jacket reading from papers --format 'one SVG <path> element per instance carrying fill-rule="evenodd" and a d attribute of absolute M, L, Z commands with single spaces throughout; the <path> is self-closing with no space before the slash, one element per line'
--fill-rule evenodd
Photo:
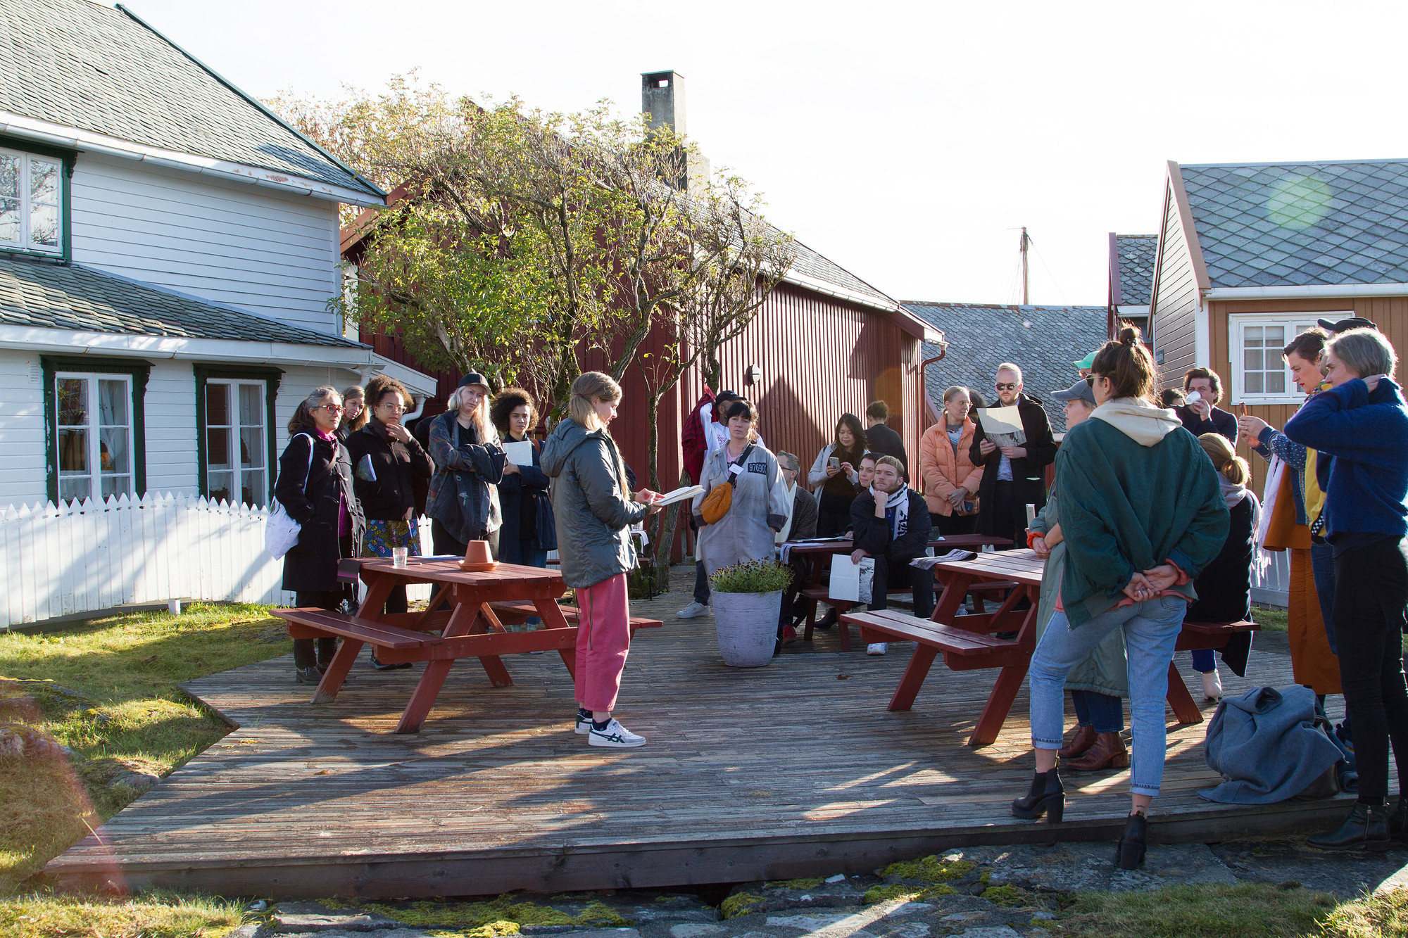
<path fill-rule="evenodd" d="M 567 417 L 542 446 L 542 470 L 553 479 L 562 582 L 576 589 L 577 723 L 593 746 L 645 745 L 611 715 L 631 651 L 631 603 L 625 575 L 635 569 L 631 525 L 655 514 L 656 494 L 631 493 L 625 461 L 611 431 L 621 386 L 610 375 L 586 372 L 572 383 Z"/>

